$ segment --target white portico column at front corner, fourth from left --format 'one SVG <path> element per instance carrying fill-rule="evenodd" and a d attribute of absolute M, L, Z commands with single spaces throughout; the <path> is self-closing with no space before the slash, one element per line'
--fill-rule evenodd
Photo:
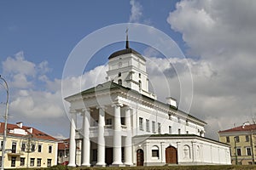
<path fill-rule="evenodd" d="M 113 105 L 113 166 L 123 165 L 122 162 L 122 136 L 121 136 L 121 110 L 120 105 Z"/>

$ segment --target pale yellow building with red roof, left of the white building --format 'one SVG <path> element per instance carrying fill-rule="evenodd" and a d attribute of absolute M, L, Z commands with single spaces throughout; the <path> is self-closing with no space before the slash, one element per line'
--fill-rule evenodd
<path fill-rule="evenodd" d="M 1 149 L 4 123 L 0 122 Z M 8 124 L 4 168 L 51 167 L 57 164 L 57 139 L 22 122 Z M 0 151 L 2 165 L 2 150 Z"/>

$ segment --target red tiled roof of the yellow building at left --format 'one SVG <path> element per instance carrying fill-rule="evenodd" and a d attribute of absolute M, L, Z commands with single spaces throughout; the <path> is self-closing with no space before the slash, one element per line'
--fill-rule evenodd
<path fill-rule="evenodd" d="M 32 133 L 29 132 L 29 129 L 31 128 L 32 128 Z M 14 131 L 15 129 L 19 129 L 19 130 L 23 129 L 25 130 L 26 134 L 12 133 L 12 131 Z M 0 135 L 3 135 L 3 131 L 4 131 L 4 122 L 0 122 Z M 50 136 L 49 134 L 39 131 L 34 127 L 22 126 L 20 128 L 17 124 L 10 124 L 10 123 L 7 124 L 7 135 L 23 137 L 29 134 L 32 134 L 32 137 L 36 139 L 57 140 L 54 137 Z"/>

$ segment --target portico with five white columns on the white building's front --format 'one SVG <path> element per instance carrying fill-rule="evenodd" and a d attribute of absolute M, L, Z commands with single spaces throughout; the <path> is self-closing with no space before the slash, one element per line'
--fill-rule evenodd
<path fill-rule="evenodd" d="M 82 129 L 76 128 L 77 114 L 83 116 Z M 105 167 L 107 165 L 105 152 L 109 149 L 113 150 L 113 162 L 110 166 L 132 165 L 131 108 L 129 106 L 119 103 L 101 107 L 92 106 L 87 109 L 75 109 L 71 115 L 70 156 L 75 157 L 75 133 L 76 130 L 79 130 L 79 132 L 82 132 L 79 136 L 83 139 L 82 166 L 90 167 L 91 165 L 90 158 L 93 151 L 90 148 L 90 140 L 96 143 L 96 166 Z M 124 153 L 122 153 L 122 147 Z M 124 157 L 124 160 L 122 160 L 122 157 Z M 75 167 L 75 160 L 70 159 L 68 166 Z"/>

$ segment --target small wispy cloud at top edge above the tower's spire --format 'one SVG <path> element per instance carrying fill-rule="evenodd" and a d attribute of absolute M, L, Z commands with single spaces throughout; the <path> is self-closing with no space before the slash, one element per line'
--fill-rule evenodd
<path fill-rule="evenodd" d="M 138 3 L 135 0 L 131 0 L 130 4 L 131 4 L 131 15 L 130 15 L 129 22 L 138 22 L 143 15 L 143 12 L 142 12 L 143 7 L 141 6 L 140 3 Z"/>

